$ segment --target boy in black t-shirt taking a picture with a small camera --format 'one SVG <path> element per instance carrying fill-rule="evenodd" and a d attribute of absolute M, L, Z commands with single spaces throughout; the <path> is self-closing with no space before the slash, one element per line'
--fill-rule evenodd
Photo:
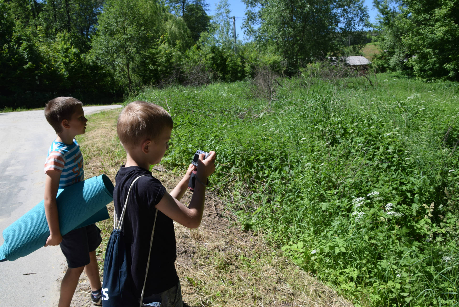
<path fill-rule="evenodd" d="M 128 253 L 128 268 L 134 280 L 134 295 L 140 299 L 145 280 L 151 231 L 156 210 L 157 219 L 150 266 L 148 269 L 144 303 L 162 301 L 161 306 L 182 306 L 179 277 L 175 271 L 176 246 L 173 220 L 185 227 L 196 228 L 201 224 L 204 210 L 207 177 L 215 171 L 215 152 L 207 159 L 199 156 L 198 167 L 190 164 L 179 184 L 168 193 L 161 182 L 151 176 L 150 165 L 161 161 L 168 149 L 173 121 L 162 107 L 156 104 L 134 101 L 129 103 L 118 117 L 117 133 L 127 153 L 126 164 L 116 175 L 113 202 L 121 214 L 129 187 L 140 177 L 129 193 L 123 221 L 123 232 Z M 190 205 L 180 203 L 192 171 L 197 171 L 196 185 Z M 119 216 L 118 216 L 119 218 Z M 130 253 L 129 253 L 130 252 Z"/>

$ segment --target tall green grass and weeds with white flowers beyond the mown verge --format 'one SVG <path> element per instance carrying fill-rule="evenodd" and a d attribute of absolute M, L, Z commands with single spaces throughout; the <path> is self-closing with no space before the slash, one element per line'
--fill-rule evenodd
<path fill-rule="evenodd" d="M 271 101 L 245 82 L 129 101 L 170 110 L 162 164 L 215 150 L 214 189 L 245 229 L 356 306 L 457 305 L 459 86 L 372 79 L 282 80 Z"/>

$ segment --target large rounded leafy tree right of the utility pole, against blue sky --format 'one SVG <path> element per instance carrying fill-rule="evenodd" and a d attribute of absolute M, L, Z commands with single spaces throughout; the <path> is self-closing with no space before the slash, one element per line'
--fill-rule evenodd
<path fill-rule="evenodd" d="M 346 45 L 342 38 L 362 29 L 368 19 L 363 0 L 243 1 L 246 34 L 282 55 L 290 71 L 340 53 Z"/>

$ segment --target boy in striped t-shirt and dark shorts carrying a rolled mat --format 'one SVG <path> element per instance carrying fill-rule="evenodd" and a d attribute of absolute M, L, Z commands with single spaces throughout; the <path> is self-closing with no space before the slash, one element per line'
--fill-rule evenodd
<path fill-rule="evenodd" d="M 45 107 L 45 117 L 57 134 L 45 162 L 45 213 L 50 227 L 45 246 L 59 244 L 68 265 L 61 283 L 59 306 L 70 306 L 83 270 L 90 281 L 93 304 L 101 306 L 102 286 L 95 256 L 102 241 L 101 230 L 92 224 L 62 236 L 56 205 L 59 188 L 84 180 L 83 156 L 75 136 L 84 134 L 88 119 L 84 117 L 83 103 L 73 97 L 50 100 Z"/>

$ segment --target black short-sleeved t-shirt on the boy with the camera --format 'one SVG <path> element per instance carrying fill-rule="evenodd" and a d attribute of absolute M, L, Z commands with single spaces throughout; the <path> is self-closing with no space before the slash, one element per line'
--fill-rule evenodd
<path fill-rule="evenodd" d="M 151 175 L 150 171 L 139 166 L 124 167 L 123 165 L 116 175 L 116 185 L 113 191 L 113 203 L 119 220 L 129 187 L 140 175 L 146 176 L 140 177 L 129 193 L 122 227 L 128 254 L 128 266 L 130 266 L 136 288 L 134 291 L 138 297 L 141 296 L 145 280 L 151 231 L 157 210 L 155 205 L 166 193 L 166 188 Z M 179 282 L 174 265 L 176 258 L 174 222 L 158 210 L 145 296 L 168 290 Z"/>

